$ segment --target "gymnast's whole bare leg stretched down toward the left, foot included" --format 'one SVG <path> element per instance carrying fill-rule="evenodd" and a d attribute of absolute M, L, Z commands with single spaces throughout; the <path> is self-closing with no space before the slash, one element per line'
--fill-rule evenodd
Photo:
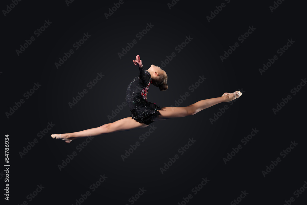
<path fill-rule="evenodd" d="M 132 130 L 137 128 L 145 128 L 148 124 L 137 122 L 136 120 L 132 119 L 132 117 L 126 117 L 121 120 L 117 120 L 112 123 L 104 124 L 97 128 L 91 128 L 87 130 L 83 130 L 80 132 L 72 132 L 72 133 L 65 133 L 61 134 L 61 139 L 67 139 L 65 142 L 69 143 L 71 141 L 80 137 L 87 137 L 87 136 L 97 136 L 101 134 L 107 134 L 111 132 L 119 132 L 119 131 L 126 131 Z M 58 138 L 60 135 L 54 134 L 51 135 L 52 138 Z"/>

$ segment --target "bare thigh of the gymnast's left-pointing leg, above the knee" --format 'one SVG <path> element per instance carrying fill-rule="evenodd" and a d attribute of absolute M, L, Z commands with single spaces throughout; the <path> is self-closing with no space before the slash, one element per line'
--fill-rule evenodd
<path fill-rule="evenodd" d="M 109 123 L 109 132 L 118 132 L 118 131 L 126 131 L 137 128 L 145 128 L 148 124 L 144 124 L 141 122 L 137 122 L 132 117 L 126 117 L 121 120 L 117 120 L 115 122 Z"/>

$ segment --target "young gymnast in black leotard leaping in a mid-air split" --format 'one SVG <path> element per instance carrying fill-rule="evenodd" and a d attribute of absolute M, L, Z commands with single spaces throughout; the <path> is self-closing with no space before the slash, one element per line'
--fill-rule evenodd
<path fill-rule="evenodd" d="M 145 128 L 153 121 L 194 115 L 203 109 L 221 102 L 232 101 L 242 95 L 240 91 L 236 91 L 234 93 L 224 93 L 221 97 L 198 101 L 187 107 L 160 107 L 155 103 L 148 102 L 146 99 L 150 84 L 159 87 L 161 91 L 168 89 L 165 71 L 155 65 L 151 65 L 148 70 L 145 70 L 139 55 L 136 56 L 133 63 L 139 67 L 140 74 L 131 81 L 126 92 L 126 102 L 131 111 L 130 117 L 80 132 L 52 134 L 51 137 L 70 143 L 80 137 Z"/>

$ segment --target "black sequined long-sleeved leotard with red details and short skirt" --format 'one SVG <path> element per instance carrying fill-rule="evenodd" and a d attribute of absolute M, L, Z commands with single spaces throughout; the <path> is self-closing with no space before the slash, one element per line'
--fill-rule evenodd
<path fill-rule="evenodd" d="M 158 115 L 161 115 L 158 110 L 161 110 L 162 107 L 147 101 L 147 93 L 152 79 L 150 72 L 145 70 L 144 67 L 139 67 L 139 70 L 140 75 L 135 77 L 128 85 L 126 102 L 131 111 L 130 116 L 134 120 L 150 124 Z"/>

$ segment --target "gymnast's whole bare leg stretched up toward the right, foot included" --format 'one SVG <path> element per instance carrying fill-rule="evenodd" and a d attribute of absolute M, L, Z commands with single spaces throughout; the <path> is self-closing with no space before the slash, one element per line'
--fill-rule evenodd
<path fill-rule="evenodd" d="M 228 95 L 229 94 L 229 95 Z M 162 110 L 159 110 L 161 116 L 157 117 L 155 121 L 166 120 L 169 118 L 177 118 L 177 117 L 185 117 L 189 115 L 194 115 L 197 112 L 209 108 L 213 105 L 219 104 L 221 102 L 229 102 L 236 98 L 240 97 L 242 93 L 240 91 L 236 91 L 233 93 L 224 93 L 222 97 L 210 98 L 206 100 L 198 101 L 194 104 L 191 104 L 187 107 L 166 107 Z"/>

